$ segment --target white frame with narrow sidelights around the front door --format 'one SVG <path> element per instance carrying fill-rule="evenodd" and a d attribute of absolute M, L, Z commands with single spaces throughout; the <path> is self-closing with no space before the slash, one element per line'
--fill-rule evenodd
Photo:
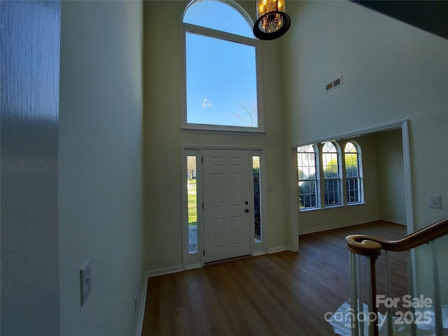
<path fill-rule="evenodd" d="M 255 241 L 255 228 L 253 211 L 251 211 L 251 255 L 268 253 L 267 244 L 267 216 L 266 216 L 266 160 L 265 148 L 248 146 L 182 146 L 181 148 L 181 195 L 182 195 L 182 264 L 183 269 L 193 269 L 204 266 L 204 216 L 202 209 L 203 179 L 202 179 L 202 152 L 204 150 L 239 150 L 248 151 L 249 160 L 253 156 L 260 157 L 260 219 L 261 241 Z M 187 156 L 196 156 L 196 188 L 197 188 L 197 253 L 188 251 L 188 190 L 187 190 Z M 249 161 L 250 162 L 250 161 Z M 249 164 L 249 180 L 253 176 L 252 165 Z M 253 184 L 250 183 L 249 193 L 253 195 Z M 249 201 L 250 209 L 253 209 L 253 197 Z"/>

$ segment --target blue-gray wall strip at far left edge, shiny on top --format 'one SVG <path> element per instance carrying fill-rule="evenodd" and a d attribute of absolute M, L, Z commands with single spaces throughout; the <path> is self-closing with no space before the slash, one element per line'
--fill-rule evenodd
<path fill-rule="evenodd" d="M 59 335 L 59 2 L 1 1 L 1 327 Z"/>

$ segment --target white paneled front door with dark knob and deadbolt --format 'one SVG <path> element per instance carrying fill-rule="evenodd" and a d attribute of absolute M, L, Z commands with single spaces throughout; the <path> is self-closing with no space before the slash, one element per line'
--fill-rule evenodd
<path fill-rule="evenodd" d="M 249 155 L 204 150 L 204 262 L 251 253 Z"/>

